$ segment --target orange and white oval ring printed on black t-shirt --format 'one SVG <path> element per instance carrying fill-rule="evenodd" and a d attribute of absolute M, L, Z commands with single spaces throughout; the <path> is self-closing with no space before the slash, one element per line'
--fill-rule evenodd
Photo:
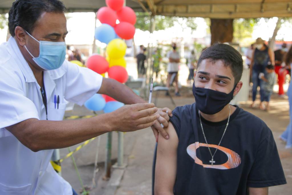
<path fill-rule="evenodd" d="M 206 165 L 203 164 L 203 162 L 197 157 L 196 151 L 199 147 L 208 147 L 209 148 L 217 148 L 218 150 L 221 150 L 222 152 L 224 152 L 227 157 L 228 160 L 226 163 L 223 163 L 221 165 Z M 206 143 L 199 143 L 199 142 L 195 142 L 192 143 L 190 146 L 187 147 L 187 153 L 195 160 L 195 163 L 198 165 L 202 165 L 205 168 L 213 168 L 213 169 L 233 169 L 236 168 L 240 165 L 241 163 L 241 158 L 239 156 L 239 154 L 237 154 L 236 152 L 234 152 L 233 150 L 230 150 L 228 148 L 224 148 L 222 146 L 217 146 L 214 144 L 206 144 Z"/>

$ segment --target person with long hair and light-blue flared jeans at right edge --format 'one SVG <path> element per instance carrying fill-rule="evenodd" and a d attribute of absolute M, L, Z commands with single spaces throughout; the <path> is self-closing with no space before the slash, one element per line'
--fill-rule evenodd
<path fill-rule="evenodd" d="M 292 47 L 290 47 L 289 51 L 287 52 L 286 56 L 284 57 L 285 69 L 291 76 L 291 65 L 292 65 Z M 290 122 L 287 126 L 286 131 L 280 136 L 280 139 L 286 142 L 286 148 L 292 148 L 292 85 L 291 81 L 289 84 L 289 88 L 287 91 L 288 101 L 289 101 L 289 115 L 290 115 Z"/>

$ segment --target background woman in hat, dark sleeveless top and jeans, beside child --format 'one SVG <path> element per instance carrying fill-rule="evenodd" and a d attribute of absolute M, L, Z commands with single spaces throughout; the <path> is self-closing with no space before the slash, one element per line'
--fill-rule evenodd
<path fill-rule="evenodd" d="M 264 90 L 263 90 L 263 80 L 259 78 L 260 73 L 265 74 L 265 69 L 268 64 L 274 66 L 274 52 L 265 44 L 262 38 L 257 38 L 255 43 L 255 50 L 252 55 L 251 65 L 250 65 L 250 76 L 252 78 L 253 89 L 252 89 L 252 100 L 253 103 L 251 107 L 255 107 L 256 94 L 258 92 L 258 87 L 260 87 L 260 109 L 265 110 L 263 104 L 264 101 Z"/>

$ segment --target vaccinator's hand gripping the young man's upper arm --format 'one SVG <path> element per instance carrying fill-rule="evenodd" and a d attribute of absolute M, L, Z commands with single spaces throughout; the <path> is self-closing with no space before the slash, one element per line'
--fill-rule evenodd
<path fill-rule="evenodd" d="M 156 138 L 156 142 L 158 142 L 159 133 L 165 138 L 168 139 L 169 136 L 164 130 L 163 127 L 168 126 L 169 117 L 172 117 L 171 110 L 169 108 L 158 108 L 156 114 L 159 114 L 159 118 L 155 123 L 151 126 L 153 134 Z M 163 127 L 162 127 L 163 126 Z"/>

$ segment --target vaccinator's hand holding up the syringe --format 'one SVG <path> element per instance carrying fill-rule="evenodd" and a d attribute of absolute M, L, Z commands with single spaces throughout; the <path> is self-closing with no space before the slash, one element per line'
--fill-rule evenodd
<path fill-rule="evenodd" d="M 136 131 L 152 126 L 160 117 L 154 104 L 140 103 L 125 105 L 110 113 L 109 122 L 112 131 Z"/>

